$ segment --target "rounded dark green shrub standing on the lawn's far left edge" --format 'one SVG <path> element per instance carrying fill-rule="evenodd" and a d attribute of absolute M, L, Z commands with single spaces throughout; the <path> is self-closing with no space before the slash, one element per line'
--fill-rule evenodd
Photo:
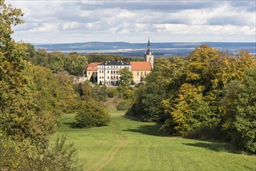
<path fill-rule="evenodd" d="M 79 103 L 75 115 L 75 127 L 101 127 L 110 123 L 110 115 L 94 103 Z"/>

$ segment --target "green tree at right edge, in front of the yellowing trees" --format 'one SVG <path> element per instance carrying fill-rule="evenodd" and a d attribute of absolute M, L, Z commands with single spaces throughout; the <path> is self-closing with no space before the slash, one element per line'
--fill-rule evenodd
<path fill-rule="evenodd" d="M 223 99 L 223 131 L 239 149 L 256 152 L 256 67 L 242 81 L 230 82 Z"/>

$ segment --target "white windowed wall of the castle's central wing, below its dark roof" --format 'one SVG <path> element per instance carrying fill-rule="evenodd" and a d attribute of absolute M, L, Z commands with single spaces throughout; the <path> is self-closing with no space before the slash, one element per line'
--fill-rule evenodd
<path fill-rule="evenodd" d="M 121 68 L 128 67 L 131 71 L 131 65 L 98 65 L 98 81 L 97 83 L 106 85 L 117 85 L 117 82 L 120 81 L 119 70 Z"/>

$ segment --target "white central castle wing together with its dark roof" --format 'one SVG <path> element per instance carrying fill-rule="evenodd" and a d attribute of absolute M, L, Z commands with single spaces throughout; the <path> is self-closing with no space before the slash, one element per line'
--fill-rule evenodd
<path fill-rule="evenodd" d="M 106 85 L 118 85 L 120 82 L 119 71 L 121 68 L 128 68 L 132 71 L 132 66 L 125 62 L 119 61 L 107 61 L 97 66 L 97 83 Z"/>

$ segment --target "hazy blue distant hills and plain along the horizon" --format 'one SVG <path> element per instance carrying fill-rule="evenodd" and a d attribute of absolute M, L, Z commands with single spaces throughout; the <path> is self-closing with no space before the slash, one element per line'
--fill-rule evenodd
<path fill-rule="evenodd" d="M 195 47 L 207 44 L 220 51 L 236 53 L 240 50 L 256 53 L 256 43 L 220 43 L 220 42 L 172 42 L 172 43 L 151 43 L 151 49 L 156 57 L 188 55 Z M 127 43 L 127 42 L 87 42 L 73 44 L 36 44 L 36 48 L 44 48 L 47 51 L 63 51 L 66 53 L 76 51 L 82 54 L 102 53 L 102 54 L 121 54 L 127 57 L 142 57 L 147 48 L 147 44 Z"/>

